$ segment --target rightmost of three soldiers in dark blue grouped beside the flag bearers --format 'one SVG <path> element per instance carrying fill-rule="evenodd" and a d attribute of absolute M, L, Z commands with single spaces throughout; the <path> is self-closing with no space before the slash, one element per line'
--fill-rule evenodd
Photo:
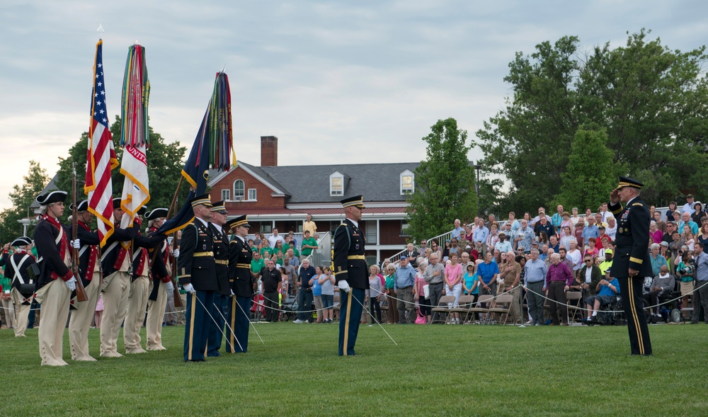
<path fill-rule="evenodd" d="M 253 253 L 246 241 L 251 224 L 246 216 L 239 216 L 229 220 L 227 227 L 234 234 L 229 244 L 229 283 L 234 295 L 227 312 L 227 321 L 233 333 L 227 337 L 226 351 L 246 353 L 249 348 L 251 298 L 256 287 L 256 279 L 251 273 Z"/>

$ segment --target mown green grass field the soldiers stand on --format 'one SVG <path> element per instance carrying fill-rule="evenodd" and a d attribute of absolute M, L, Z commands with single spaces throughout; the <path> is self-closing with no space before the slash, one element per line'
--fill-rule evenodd
<path fill-rule="evenodd" d="M 362 325 L 355 357 L 338 326 L 256 324 L 249 353 L 164 352 L 40 367 L 37 330 L 0 331 L 3 416 L 706 416 L 708 326 L 651 326 L 653 357 L 626 327 Z M 144 340 L 144 329 L 142 333 Z M 91 355 L 98 357 L 98 330 Z M 119 339 L 122 351 L 122 335 Z"/>

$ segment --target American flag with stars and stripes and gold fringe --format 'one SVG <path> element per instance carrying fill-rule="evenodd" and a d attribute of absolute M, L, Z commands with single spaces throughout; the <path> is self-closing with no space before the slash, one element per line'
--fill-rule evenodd
<path fill-rule="evenodd" d="M 99 40 L 93 64 L 91 123 L 89 147 L 86 152 L 84 193 L 89 196 L 89 212 L 96 215 L 101 246 L 104 246 L 108 236 L 113 234 L 113 183 L 110 181 L 110 171 L 118 166 L 108 125 L 103 84 L 103 40 Z"/>

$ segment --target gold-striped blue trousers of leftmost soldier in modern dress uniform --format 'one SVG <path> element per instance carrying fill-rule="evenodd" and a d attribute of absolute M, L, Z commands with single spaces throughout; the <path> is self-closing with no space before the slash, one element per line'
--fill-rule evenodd
<path fill-rule="evenodd" d="M 213 291 L 197 291 L 187 295 L 184 326 L 184 360 L 204 360 L 212 319 L 205 310 L 214 302 Z M 202 305 L 203 304 L 203 305 Z M 213 307 L 212 307 L 213 308 Z"/>

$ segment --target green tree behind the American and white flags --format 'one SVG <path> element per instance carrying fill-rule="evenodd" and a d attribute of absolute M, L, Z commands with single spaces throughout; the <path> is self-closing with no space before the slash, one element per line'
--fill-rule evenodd
<path fill-rule="evenodd" d="M 115 116 L 115 122 L 110 126 L 110 133 L 113 136 L 115 154 L 118 161 L 122 161 L 122 149 L 120 143 L 120 117 Z M 89 132 L 81 134 L 81 139 L 69 149 L 67 158 L 59 157 L 59 172 L 57 173 L 57 187 L 62 190 L 72 190 L 72 163 L 76 162 L 76 193 L 77 200 L 86 198 L 84 194 L 84 176 L 86 173 L 86 149 L 88 146 Z M 148 178 L 150 185 L 150 201 L 148 206 L 170 207 L 172 198 L 181 171 L 184 166 L 184 156 L 186 148 L 179 142 L 165 143 L 165 139 L 150 127 L 150 147 L 147 149 Z M 113 195 L 120 196 L 123 189 L 123 176 L 120 174 L 120 165 L 113 169 L 111 180 L 113 181 Z M 186 195 L 188 187 L 186 182 L 181 186 L 180 195 Z M 68 212 L 67 212 L 68 215 Z"/>

